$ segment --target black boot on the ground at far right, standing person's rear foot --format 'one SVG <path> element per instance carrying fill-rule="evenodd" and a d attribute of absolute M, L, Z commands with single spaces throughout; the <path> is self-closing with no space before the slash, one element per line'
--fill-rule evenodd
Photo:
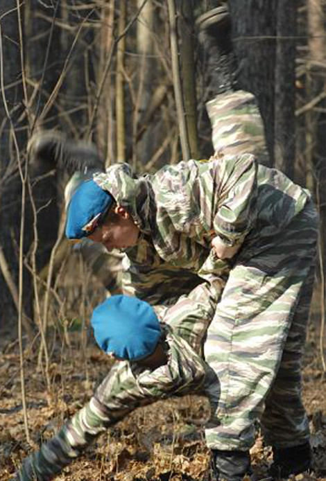
<path fill-rule="evenodd" d="M 275 480 L 289 478 L 311 469 L 312 453 L 309 442 L 291 448 L 273 448 L 273 464 L 269 475 Z"/>

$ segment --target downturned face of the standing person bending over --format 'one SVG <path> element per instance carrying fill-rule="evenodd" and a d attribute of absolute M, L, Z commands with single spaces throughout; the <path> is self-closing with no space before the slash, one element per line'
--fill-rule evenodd
<path fill-rule="evenodd" d="M 139 228 L 128 212 L 117 206 L 115 213 L 117 213 L 117 220 L 104 221 L 88 236 L 92 241 L 103 244 L 108 251 L 132 247 L 136 245 L 139 236 Z"/>

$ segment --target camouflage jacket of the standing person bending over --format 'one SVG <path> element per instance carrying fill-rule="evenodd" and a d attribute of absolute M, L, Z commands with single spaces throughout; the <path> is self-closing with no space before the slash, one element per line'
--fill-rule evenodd
<path fill-rule="evenodd" d="M 173 304 L 198 283 L 216 279 L 221 295 L 232 261 L 216 258 L 212 238 L 242 244 L 238 259 L 244 260 L 277 241 L 309 198 L 250 154 L 181 161 L 144 177 L 116 164 L 94 180 L 141 231 L 137 246 L 126 251 L 125 292 L 153 305 Z"/>

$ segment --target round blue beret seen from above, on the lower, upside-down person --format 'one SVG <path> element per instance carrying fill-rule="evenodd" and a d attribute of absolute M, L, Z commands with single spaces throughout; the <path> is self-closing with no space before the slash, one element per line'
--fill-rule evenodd
<path fill-rule="evenodd" d="M 146 358 L 161 335 L 153 307 L 137 297 L 109 297 L 94 309 L 91 323 L 98 346 L 120 359 Z"/>

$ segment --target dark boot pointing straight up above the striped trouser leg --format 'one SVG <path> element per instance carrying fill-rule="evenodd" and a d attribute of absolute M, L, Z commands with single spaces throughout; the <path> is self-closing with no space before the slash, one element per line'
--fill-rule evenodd
<path fill-rule="evenodd" d="M 198 40 L 207 58 L 209 95 L 237 89 L 237 59 L 231 39 L 231 19 L 224 3 L 196 19 Z"/>

